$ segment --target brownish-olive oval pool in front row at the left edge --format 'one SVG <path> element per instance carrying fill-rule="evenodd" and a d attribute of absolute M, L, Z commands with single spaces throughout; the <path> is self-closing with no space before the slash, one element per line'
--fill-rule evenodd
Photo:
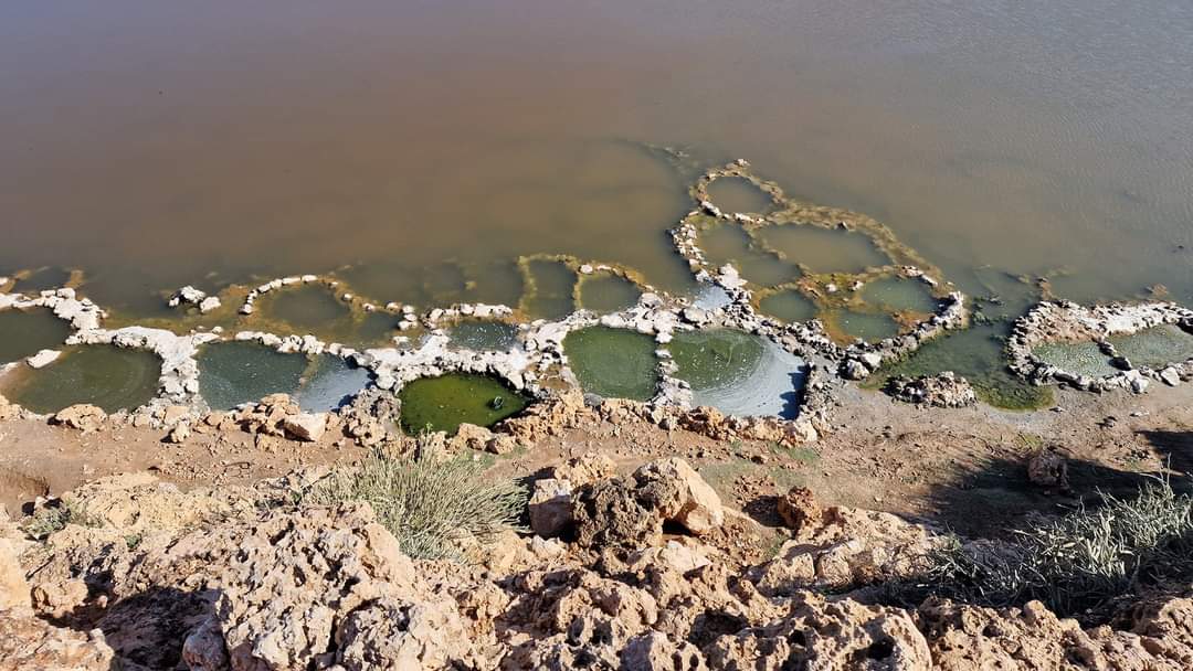
<path fill-rule="evenodd" d="M 115 412 L 153 399 L 160 377 L 161 360 L 153 353 L 89 344 L 67 348 L 42 369 L 13 372 L 2 393 L 33 412 L 57 412 L 79 403 Z"/>

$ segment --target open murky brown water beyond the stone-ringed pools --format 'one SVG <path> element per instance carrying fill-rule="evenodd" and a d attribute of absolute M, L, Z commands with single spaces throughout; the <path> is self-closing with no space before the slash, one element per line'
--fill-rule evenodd
<path fill-rule="evenodd" d="M 1121 5 L 13 0 L 0 271 L 84 267 L 140 310 L 348 263 L 450 297 L 530 253 L 682 288 L 662 143 L 867 212 L 971 291 L 1064 267 L 1074 298 L 1189 302 L 1193 5 Z"/>

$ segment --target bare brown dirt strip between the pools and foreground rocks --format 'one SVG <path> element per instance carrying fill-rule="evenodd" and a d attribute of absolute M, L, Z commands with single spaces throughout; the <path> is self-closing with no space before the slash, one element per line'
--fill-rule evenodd
<path fill-rule="evenodd" d="M 1191 399 L 1193 385 L 1138 396 L 1059 391 L 1057 409 L 1003 412 L 984 405 L 920 409 L 849 386 L 835 408 L 834 431 L 795 449 L 592 420 L 511 455 L 474 458 L 492 462 L 494 476 L 524 478 L 592 451 L 624 470 L 679 455 L 727 503 L 767 526 L 778 524 L 773 497 L 805 485 L 828 504 L 997 535 L 1025 516 L 1071 508 L 1099 490 L 1131 493 L 1146 477 L 1168 473 L 1183 485 L 1182 474 L 1193 472 Z M 163 431 L 132 427 L 80 434 L 44 422 L 0 423 L 0 503 L 17 514 L 36 496 L 120 472 L 152 471 L 186 489 L 247 484 L 301 465 L 351 464 L 365 455 L 344 439 L 313 445 L 208 431 L 175 446 L 162 442 Z M 1026 460 L 1040 449 L 1069 460 L 1069 490 L 1045 491 L 1027 481 Z"/>

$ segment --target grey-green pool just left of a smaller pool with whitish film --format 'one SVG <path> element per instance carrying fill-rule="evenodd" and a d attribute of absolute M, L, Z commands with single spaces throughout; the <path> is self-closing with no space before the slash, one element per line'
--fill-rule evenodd
<path fill-rule="evenodd" d="M 198 354 L 199 394 L 212 410 L 230 410 L 271 393 L 295 393 L 310 361 L 255 342 L 212 342 Z"/>

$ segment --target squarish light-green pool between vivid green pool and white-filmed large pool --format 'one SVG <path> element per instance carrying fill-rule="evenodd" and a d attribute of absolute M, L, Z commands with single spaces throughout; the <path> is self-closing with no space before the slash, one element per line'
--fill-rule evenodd
<path fill-rule="evenodd" d="M 649 400 L 659 389 L 659 359 L 650 336 L 626 329 L 589 327 L 568 334 L 563 352 L 587 393 Z"/>

